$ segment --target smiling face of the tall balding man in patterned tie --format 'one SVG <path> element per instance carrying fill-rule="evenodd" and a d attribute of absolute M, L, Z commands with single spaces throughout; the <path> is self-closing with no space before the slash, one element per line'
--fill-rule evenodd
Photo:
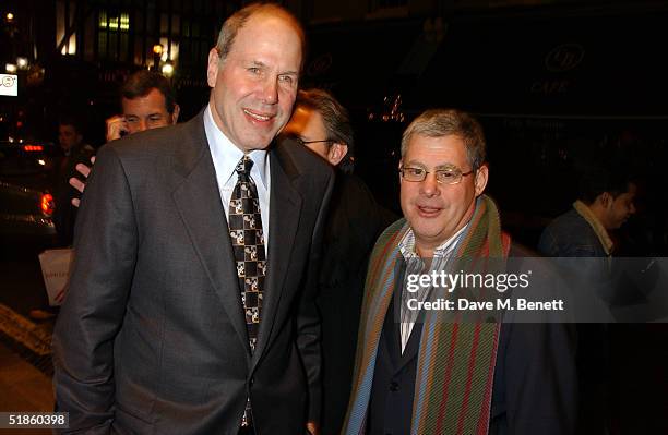
<path fill-rule="evenodd" d="M 220 62 L 208 55 L 211 108 L 220 131 L 241 150 L 263 149 L 290 118 L 301 67 L 301 39 L 279 14 L 255 13 Z"/>

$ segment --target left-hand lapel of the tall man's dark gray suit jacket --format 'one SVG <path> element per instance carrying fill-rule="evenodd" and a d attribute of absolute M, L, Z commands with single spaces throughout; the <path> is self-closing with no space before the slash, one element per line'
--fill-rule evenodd
<path fill-rule="evenodd" d="M 250 359 L 229 230 L 202 113 L 190 121 L 190 126 L 189 143 L 179 147 L 180 155 L 176 156 L 176 161 L 182 164 L 176 171 L 182 172 L 184 178 L 172 198 L 213 288 L 243 347 L 249 349 L 247 357 Z"/>

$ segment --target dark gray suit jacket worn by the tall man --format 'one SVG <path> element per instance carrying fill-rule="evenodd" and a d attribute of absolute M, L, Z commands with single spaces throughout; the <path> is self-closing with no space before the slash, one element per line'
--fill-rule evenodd
<path fill-rule="evenodd" d="M 264 311 L 250 353 L 202 114 L 98 154 L 53 335 L 56 400 L 86 433 L 303 433 L 320 409 L 313 302 L 333 172 L 298 146 L 270 152 Z M 307 388 L 309 387 L 309 388 Z"/>

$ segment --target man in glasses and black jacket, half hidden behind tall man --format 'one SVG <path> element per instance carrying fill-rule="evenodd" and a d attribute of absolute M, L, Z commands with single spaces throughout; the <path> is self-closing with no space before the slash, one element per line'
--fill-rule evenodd
<path fill-rule="evenodd" d="M 283 134 L 336 169 L 318 281 L 322 319 L 323 435 L 341 433 L 350 396 L 367 262 L 375 239 L 396 216 L 353 173 L 354 134 L 346 109 L 326 90 L 299 90 Z"/>

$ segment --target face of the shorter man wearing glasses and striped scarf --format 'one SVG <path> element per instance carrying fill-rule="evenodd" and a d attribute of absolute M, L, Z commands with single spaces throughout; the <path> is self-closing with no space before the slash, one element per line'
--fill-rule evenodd
<path fill-rule="evenodd" d="M 401 178 L 401 203 L 404 217 L 413 228 L 421 257 L 462 229 L 473 216 L 478 197 L 487 185 L 487 167 L 462 177 L 458 184 L 440 184 L 434 170 L 456 166 L 462 172 L 473 168 L 464 142 L 455 135 L 429 137 L 413 135 L 402 159 L 404 167 L 422 168 L 429 173 L 421 182 Z"/>

